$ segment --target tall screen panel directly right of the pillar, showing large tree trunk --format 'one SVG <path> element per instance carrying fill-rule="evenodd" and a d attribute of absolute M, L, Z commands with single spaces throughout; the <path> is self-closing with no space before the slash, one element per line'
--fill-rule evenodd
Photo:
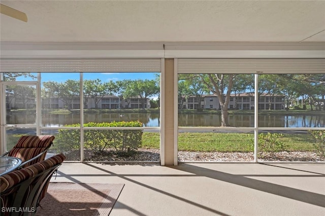
<path fill-rule="evenodd" d="M 179 74 L 178 160 L 253 161 L 252 89 L 252 75 Z"/>

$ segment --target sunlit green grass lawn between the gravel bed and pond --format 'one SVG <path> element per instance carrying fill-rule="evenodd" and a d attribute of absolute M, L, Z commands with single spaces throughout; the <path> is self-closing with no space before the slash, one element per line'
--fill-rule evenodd
<path fill-rule="evenodd" d="M 159 133 L 144 132 L 142 148 L 159 149 Z M 286 151 L 314 151 L 309 134 L 284 134 Z M 253 135 L 245 133 L 179 133 L 178 150 L 200 152 L 253 152 Z"/>

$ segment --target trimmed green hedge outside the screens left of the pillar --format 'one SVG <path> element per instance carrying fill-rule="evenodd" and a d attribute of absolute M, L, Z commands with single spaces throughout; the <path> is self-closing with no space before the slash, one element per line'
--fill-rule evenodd
<path fill-rule="evenodd" d="M 103 122 L 86 123 L 84 127 L 142 127 L 138 121 L 131 122 Z M 65 125 L 65 127 L 79 127 L 80 124 Z M 119 129 L 85 129 L 84 149 L 92 152 L 102 152 L 115 149 L 118 152 L 137 151 L 141 147 L 143 130 L 119 130 Z M 59 129 L 54 146 L 60 152 L 68 153 L 80 150 L 79 129 Z"/>

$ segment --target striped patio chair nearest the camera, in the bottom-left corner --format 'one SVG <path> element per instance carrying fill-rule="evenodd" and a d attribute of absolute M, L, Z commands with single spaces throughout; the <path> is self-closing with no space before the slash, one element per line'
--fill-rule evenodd
<path fill-rule="evenodd" d="M 54 155 L 1 176 L 1 215 L 35 215 L 51 176 L 65 159 L 63 154 Z"/>

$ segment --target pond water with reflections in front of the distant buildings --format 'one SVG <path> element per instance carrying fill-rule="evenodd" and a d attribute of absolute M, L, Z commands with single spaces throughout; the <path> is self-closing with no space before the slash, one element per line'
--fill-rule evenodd
<path fill-rule="evenodd" d="M 158 113 L 102 113 L 85 114 L 84 122 L 140 121 L 146 127 L 160 125 Z M 221 116 L 216 114 L 180 114 L 179 126 L 221 125 Z M 35 124 L 36 114 L 7 115 L 7 124 Z M 80 114 L 43 114 L 43 127 L 59 127 L 80 123 Z M 254 115 L 229 115 L 232 127 L 254 127 Z M 325 127 L 325 116 L 312 115 L 259 115 L 259 127 Z"/>

